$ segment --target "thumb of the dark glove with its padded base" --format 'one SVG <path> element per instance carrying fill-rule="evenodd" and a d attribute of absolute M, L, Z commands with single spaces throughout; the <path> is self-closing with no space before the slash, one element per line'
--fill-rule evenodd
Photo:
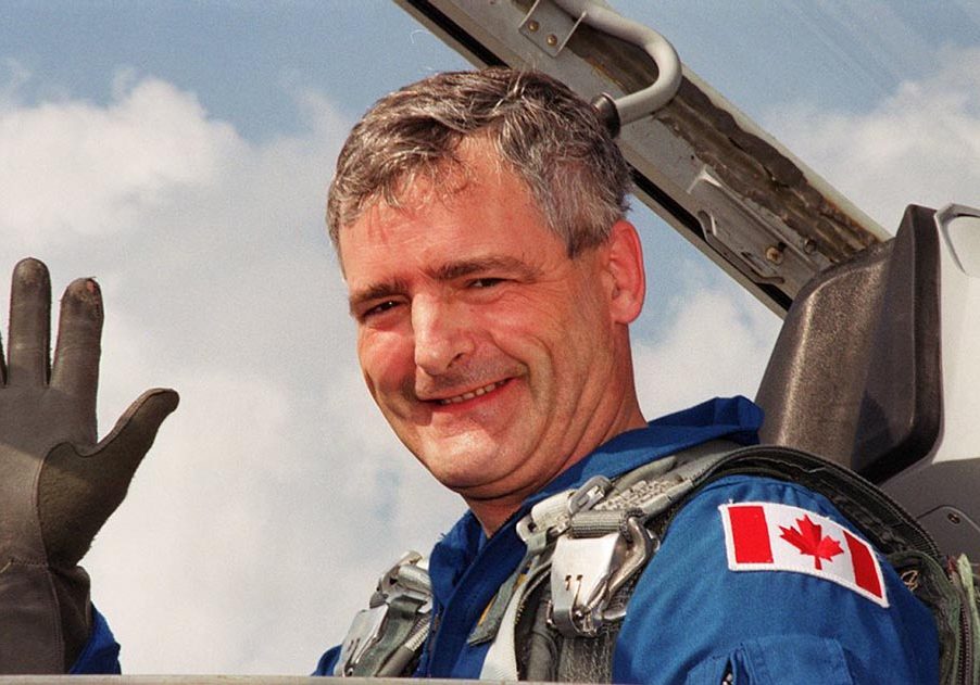
<path fill-rule="evenodd" d="M 63 443 L 45 460 L 38 482 L 38 515 L 49 559 L 77 563 L 122 504 L 163 420 L 178 403 L 173 390 L 140 395 L 93 449 L 79 454 Z"/>

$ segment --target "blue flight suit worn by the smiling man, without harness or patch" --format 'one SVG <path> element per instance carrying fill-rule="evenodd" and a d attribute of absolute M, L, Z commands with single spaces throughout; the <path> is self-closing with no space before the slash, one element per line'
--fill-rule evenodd
<path fill-rule="evenodd" d="M 429 560 L 438 627 L 415 675 L 479 676 L 488 645 L 470 646 L 467 638 L 524 556 L 515 524 L 535 503 L 708 440 L 753 443 L 761 420 L 758 407 L 743 397 L 714 399 L 600 446 L 530 497 L 489 540 L 467 512 Z M 729 571 L 718 507 L 738 502 L 792 505 L 853 530 L 827 498 L 792 483 L 734 475 L 703 487 L 677 513 L 642 573 L 616 640 L 614 682 L 716 685 L 727 671 L 734 683 L 753 685 L 938 681 L 932 616 L 887 563 L 888 608 L 804 573 Z M 86 655 L 104 659 L 115 643 L 104 622 L 95 629 L 73 672 L 104 669 Z M 327 651 L 316 673 L 331 674 L 338 656 L 337 647 Z"/>

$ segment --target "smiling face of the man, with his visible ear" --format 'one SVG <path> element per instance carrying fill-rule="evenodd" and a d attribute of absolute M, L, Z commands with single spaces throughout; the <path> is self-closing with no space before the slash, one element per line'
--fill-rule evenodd
<path fill-rule="evenodd" d="M 458 190 L 362 214 L 340 255 L 361 367 L 399 437 L 467 500 L 519 502 L 610 436 L 628 347 L 608 250 L 569 258 L 485 145 L 463 145 Z"/>

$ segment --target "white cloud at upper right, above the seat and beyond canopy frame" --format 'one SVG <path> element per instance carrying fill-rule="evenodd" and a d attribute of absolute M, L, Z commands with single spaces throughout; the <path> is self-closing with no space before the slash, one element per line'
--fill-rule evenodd
<path fill-rule="evenodd" d="M 894 231 L 905 205 L 980 204 L 980 48 L 941 50 L 940 71 L 870 112 L 794 104 L 766 127 Z"/>

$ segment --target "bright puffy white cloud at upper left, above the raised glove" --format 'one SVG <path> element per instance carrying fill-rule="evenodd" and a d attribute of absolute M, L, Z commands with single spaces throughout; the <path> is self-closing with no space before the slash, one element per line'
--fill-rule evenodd
<path fill-rule="evenodd" d="M 25 78 L 14 69 L 11 87 Z M 214 182 L 240 142 L 193 96 L 156 79 L 121 85 L 105 107 L 8 104 L 0 109 L 0 231 L 37 249 L 131 230 L 166 193 Z"/>

